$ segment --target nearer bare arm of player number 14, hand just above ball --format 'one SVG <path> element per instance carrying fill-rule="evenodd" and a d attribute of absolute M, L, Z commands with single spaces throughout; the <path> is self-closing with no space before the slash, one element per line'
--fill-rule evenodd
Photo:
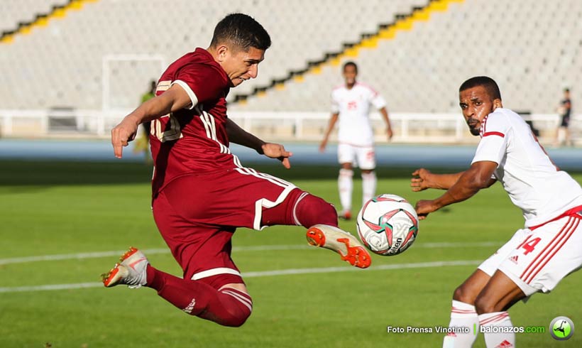
<path fill-rule="evenodd" d="M 419 200 L 416 204 L 419 219 L 425 219 L 431 212 L 456 202 L 462 202 L 473 197 L 479 190 L 490 187 L 495 183 L 492 179 L 493 172 L 498 164 L 491 161 L 479 161 L 473 163 L 471 168 L 461 173 L 459 180 L 456 180 L 449 190 L 444 192 L 436 200 Z"/>

